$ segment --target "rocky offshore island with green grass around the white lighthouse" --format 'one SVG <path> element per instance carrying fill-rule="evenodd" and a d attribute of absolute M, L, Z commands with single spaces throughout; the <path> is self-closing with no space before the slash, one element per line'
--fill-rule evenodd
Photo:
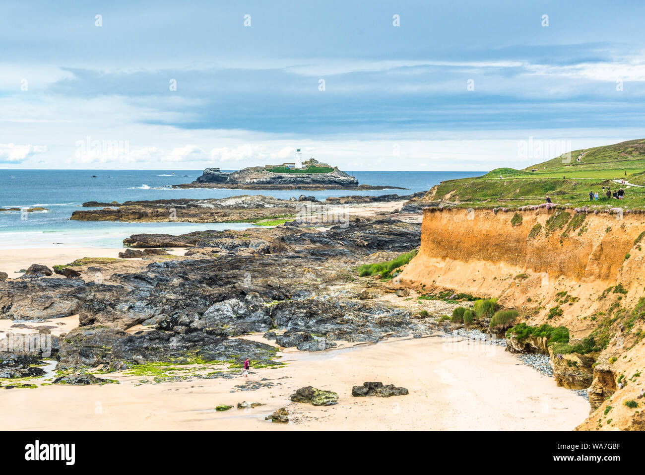
<path fill-rule="evenodd" d="M 356 177 L 320 163 L 316 159 L 304 161 L 302 166 L 293 163 L 247 167 L 237 172 L 222 172 L 219 168 L 206 168 L 192 183 L 173 185 L 173 188 L 232 188 L 239 190 L 386 190 L 405 188 L 393 186 L 359 185 Z"/>

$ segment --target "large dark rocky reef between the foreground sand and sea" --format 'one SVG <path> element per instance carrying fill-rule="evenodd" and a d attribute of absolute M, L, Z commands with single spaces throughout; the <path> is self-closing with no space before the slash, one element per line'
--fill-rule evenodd
<path fill-rule="evenodd" d="M 199 258 L 114 261 L 102 265 L 101 281 L 86 280 L 96 268 L 92 262 L 87 270 L 75 267 L 79 278 L 1 281 L 0 318 L 78 314 L 80 327 L 61 339 L 59 369 L 245 358 L 276 365 L 277 347 L 236 337 L 277 330 L 280 345 L 321 350 L 334 340 L 379 341 L 435 329 L 405 308 L 333 288 L 361 256 L 417 247 L 418 224 L 353 219 L 322 231 L 288 225 L 245 230 L 246 238 L 241 233 L 133 236 L 130 243 L 141 247 L 175 239 Z M 213 248 L 222 252 L 201 254 Z M 126 332 L 139 324 L 144 330 Z"/>

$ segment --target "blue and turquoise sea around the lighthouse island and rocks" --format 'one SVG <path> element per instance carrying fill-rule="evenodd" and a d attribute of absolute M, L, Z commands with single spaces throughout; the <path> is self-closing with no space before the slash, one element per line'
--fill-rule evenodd
<path fill-rule="evenodd" d="M 232 170 L 224 170 L 232 171 Z M 222 198 L 237 195 L 288 199 L 301 194 L 324 200 L 330 196 L 412 194 L 440 181 L 480 176 L 484 172 L 377 172 L 351 171 L 359 183 L 392 185 L 407 190 L 228 190 L 171 188 L 190 183 L 201 170 L 0 170 L 0 208 L 43 207 L 46 211 L 0 212 L 0 249 L 43 247 L 119 247 L 138 233 L 184 234 L 199 230 L 244 229 L 248 223 L 111 223 L 70 221 L 86 201 L 137 201 L 170 198 Z"/>

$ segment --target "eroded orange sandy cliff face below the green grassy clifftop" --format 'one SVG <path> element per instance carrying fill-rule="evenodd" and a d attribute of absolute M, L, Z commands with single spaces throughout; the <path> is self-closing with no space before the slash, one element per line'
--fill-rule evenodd
<path fill-rule="evenodd" d="M 645 311 L 641 315 L 639 310 L 639 299 L 645 296 L 643 231 L 645 214 L 618 210 L 593 214 L 559 208 L 425 208 L 421 249 L 401 281 L 425 290 L 497 297 L 504 307 L 519 310 L 528 324 L 564 325 L 573 339 L 601 328 L 611 339 L 599 356 L 592 383 L 600 393 L 596 407 L 601 403 L 602 411 L 608 404 L 602 401 L 616 391 L 612 388 L 620 374 L 638 372 L 632 363 L 641 368 L 645 363 L 639 336 L 645 319 Z M 630 325 L 625 333 L 622 321 Z M 627 352 L 631 359 L 622 358 Z M 628 387 L 630 393 L 639 392 L 639 378 Z M 645 406 L 645 398 L 639 401 Z"/>

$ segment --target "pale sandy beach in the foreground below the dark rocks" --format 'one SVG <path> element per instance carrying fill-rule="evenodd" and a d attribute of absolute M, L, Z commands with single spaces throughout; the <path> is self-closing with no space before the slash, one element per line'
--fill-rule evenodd
<path fill-rule="evenodd" d="M 583 398 L 493 345 L 437 336 L 282 355 L 285 367 L 253 370 L 249 381 L 273 383 L 253 391 L 235 390 L 245 383 L 241 374 L 143 385 L 137 385 L 141 376 L 99 374 L 119 384 L 3 390 L 3 407 L 12 410 L 3 411 L 0 428 L 571 430 L 589 411 Z M 352 386 L 363 381 L 394 383 L 410 394 L 352 397 Z M 339 403 L 292 403 L 289 395 L 307 385 L 337 392 Z M 244 400 L 265 405 L 215 411 L 216 405 Z M 295 422 L 264 420 L 279 407 Z"/>

